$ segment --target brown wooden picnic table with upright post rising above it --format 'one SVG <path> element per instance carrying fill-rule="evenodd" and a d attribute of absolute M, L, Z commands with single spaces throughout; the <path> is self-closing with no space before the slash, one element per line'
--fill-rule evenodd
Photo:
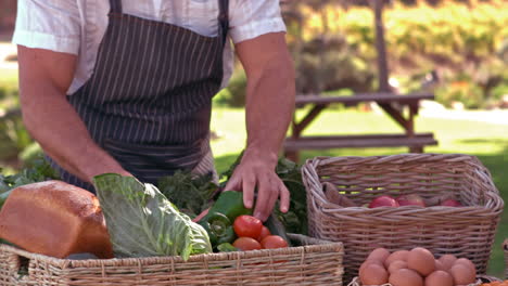
<path fill-rule="evenodd" d="M 344 147 L 396 147 L 407 146 L 410 153 L 422 153 L 423 147 L 436 145 L 433 133 L 417 133 L 415 117 L 418 115 L 419 103 L 422 100 L 433 100 L 432 92 L 417 92 L 397 94 L 389 84 L 389 67 L 386 61 L 386 44 L 384 40 L 384 25 L 382 20 L 383 1 L 371 0 L 374 13 L 376 50 L 378 60 L 379 89 L 372 93 L 357 93 L 351 96 L 333 96 L 333 94 L 299 94 L 296 107 L 310 105 L 310 109 L 303 119 L 293 117 L 290 136 L 284 142 L 284 153 L 290 159 L 297 161 L 301 150 L 328 150 Z M 361 135 L 303 135 L 303 131 L 310 122 L 331 104 L 354 106 L 365 102 L 377 103 L 385 114 L 395 120 L 403 132 L 395 134 L 361 134 Z M 405 114 L 404 110 L 408 113 Z M 340 126 L 340 125 L 338 125 Z"/>

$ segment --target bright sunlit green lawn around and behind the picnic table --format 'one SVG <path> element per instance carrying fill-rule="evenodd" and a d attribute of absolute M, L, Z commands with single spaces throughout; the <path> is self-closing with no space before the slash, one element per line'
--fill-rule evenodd
<path fill-rule="evenodd" d="M 299 116 L 302 114 L 299 113 Z M 269 122 L 265 122 L 269 125 Z M 439 146 L 427 147 L 429 153 L 462 153 L 474 155 L 491 171 L 494 183 L 505 200 L 508 199 L 508 126 L 465 120 L 417 118 L 417 131 L 432 131 Z M 245 143 L 244 113 L 240 109 L 216 108 L 212 129 L 219 135 L 212 147 L 218 171 L 226 170 Z M 397 125 L 384 115 L 352 109 L 332 109 L 323 113 L 308 129 L 308 134 L 361 134 L 399 132 Z M 374 156 L 407 153 L 407 148 L 344 148 L 307 151 L 301 154 L 302 164 L 315 156 Z M 504 253 L 500 244 L 508 238 L 508 212 L 503 213 L 495 238 L 487 273 L 504 275 Z"/>

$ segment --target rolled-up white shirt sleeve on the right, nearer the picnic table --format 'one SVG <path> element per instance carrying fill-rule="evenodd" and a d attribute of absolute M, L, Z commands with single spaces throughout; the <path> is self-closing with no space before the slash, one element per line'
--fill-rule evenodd
<path fill-rule="evenodd" d="M 278 0 L 233 0 L 229 13 L 229 35 L 234 43 L 285 31 Z"/>

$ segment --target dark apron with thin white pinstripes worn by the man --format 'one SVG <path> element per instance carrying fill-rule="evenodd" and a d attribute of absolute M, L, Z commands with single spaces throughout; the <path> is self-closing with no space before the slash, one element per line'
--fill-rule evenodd
<path fill-rule="evenodd" d="M 67 96 L 97 144 L 142 182 L 176 170 L 215 172 L 209 119 L 229 25 L 228 0 L 218 1 L 218 36 L 205 37 L 124 14 L 122 0 L 110 0 L 93 74 Z M 51 164 L 62 180 L 94 191 Z"/>

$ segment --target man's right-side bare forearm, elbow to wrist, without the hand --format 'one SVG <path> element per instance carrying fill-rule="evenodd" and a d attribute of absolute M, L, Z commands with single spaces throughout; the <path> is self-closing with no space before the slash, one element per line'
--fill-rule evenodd
<path fill-rule="evenodd" d="M 289 54 L 269 62 L 247 82 L 247 153 L 277 162 L 294 110 L 294 72 Z"/>

